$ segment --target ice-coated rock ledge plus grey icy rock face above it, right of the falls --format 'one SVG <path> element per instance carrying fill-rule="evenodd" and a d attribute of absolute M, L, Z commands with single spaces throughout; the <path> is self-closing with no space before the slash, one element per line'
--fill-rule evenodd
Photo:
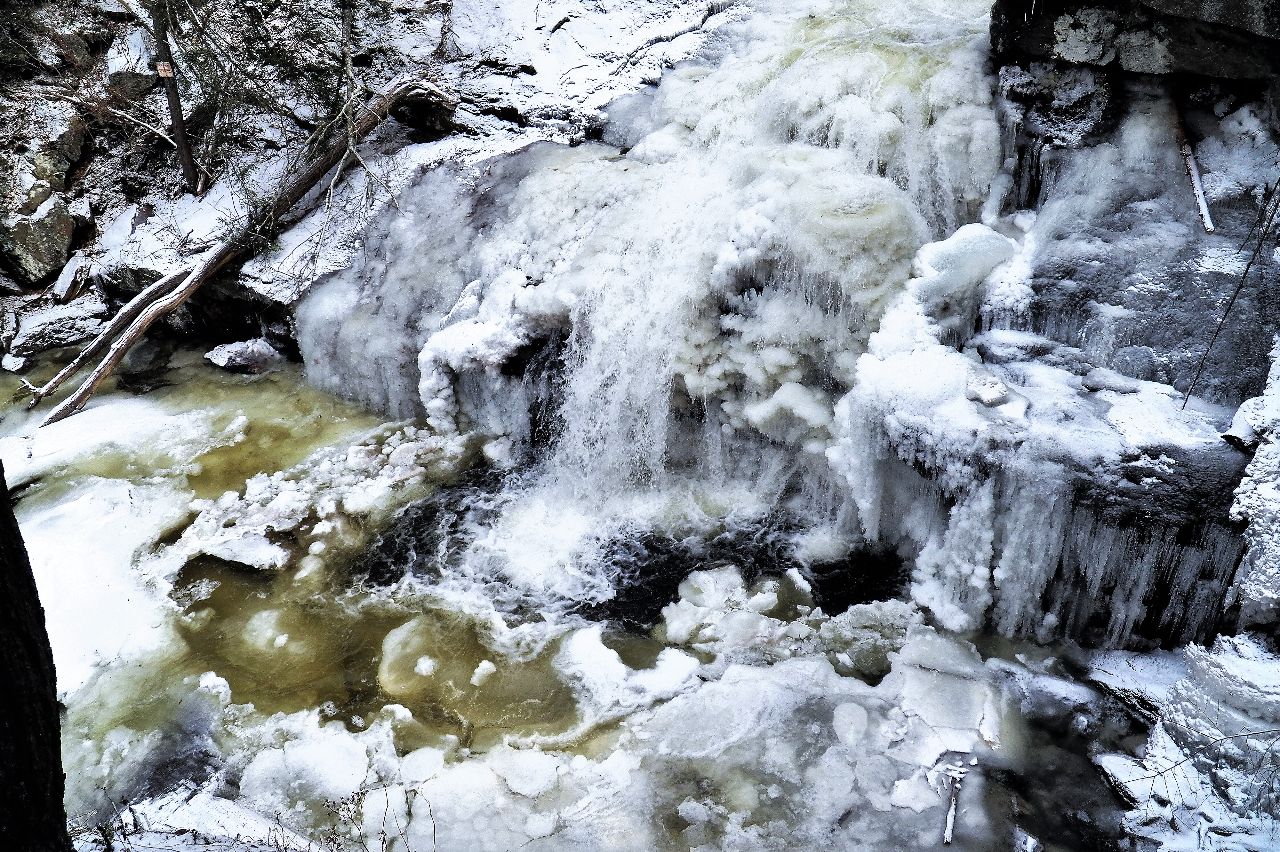
<path fill-rule="evenodd" d="M 1015 257 L 968 290 L 942 275 L 942 298 L 886 315 L 838 409 L 851 439 L 832 453 L 864 527 L 920 554 L 918 600 L 956 628 L 989 618 L 1006 635 L 1178 643 L 1222 615 L 1245 455 L 1219 439 L 1231 417 L 1213 403 L 1257 386 L 1266 338 L 1240 317 L 1265 292 L 1244 288 L 1197 395 L 1181 397 L 1215 335 L 1206 317 L 1249 260 L 1239 239 L 1276 148 L 1249 107 L 1203 122 L 1220 219 L 1204 234 L 1172 106 L 1132 88 L 1114 133 L 1057 155 L 1042 212 L 1000 225 Z M 923 252 L 918 264 L 937 275 Z"/>

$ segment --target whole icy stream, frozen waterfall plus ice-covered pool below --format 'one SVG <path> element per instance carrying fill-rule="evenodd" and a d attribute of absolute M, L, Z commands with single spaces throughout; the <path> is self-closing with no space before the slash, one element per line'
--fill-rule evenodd
<path fill-rule="evenodd" d="M 1167 105 L 1001 215 L 988 9 L 458 0 L 538 74 L 456 82 L 593 141 L 402 152 L 302 366 L 6 411 L 79 847 L 1274 848 L 1230 739 L 1280 719 L 1266 643 L 1151 650 L 1212 632 L 1238 528 L 1073 501 L 1239 477 L 1238 400 L 1020 325 L 1042 243 L 1105 242 L 1061 239 L 1120 203 L 1080 175 L 1160 178 Z M 1126 247 L 1183 239 L 1162 202 Z M 1239 747 L 1184 761 L 1206 730 Z"/>

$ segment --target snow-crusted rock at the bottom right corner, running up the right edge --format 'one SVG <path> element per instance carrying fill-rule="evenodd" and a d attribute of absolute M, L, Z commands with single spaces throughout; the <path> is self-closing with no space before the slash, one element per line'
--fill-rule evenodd
<path fill-rule="evenodd" d="M 1222 848 L 1267 849 L 1280 830 L 1274 771 L 1280 722 L 1280 656 L 1274 638 L 1280 560 L 1277 391 L 1274 361 L 1265 393 L 1247 400 L 1236 416 L 1257 441 L 1233 507 L 1233 514 L 1248 523 L 1248 550 L 1229 599 L 1236 624 L 1249 632 L 1219 637 L 1211 647 L 1188 647 L 1180 665 L 1167 667 L 1172 677 L 1125 670 L 1114 660 L 1094 664 L 1108 669 L 1117 695 L 1151 695 L 1138 701 L 1155 720 L 1146 750 L 1137 757 L 1097 760 L 1133 803 L 1126 817 L 1130 832 L 1167 848 L 1203 847 L 1206 838 L 1213 838 Z"/>

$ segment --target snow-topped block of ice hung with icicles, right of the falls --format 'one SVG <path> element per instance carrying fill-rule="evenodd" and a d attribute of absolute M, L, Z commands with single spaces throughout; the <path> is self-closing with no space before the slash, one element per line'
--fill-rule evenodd
<path fill-rule="evenodd" d="M 1225 518 L 1206 518 L 1192 496 L 1230 493 L 1239 457 L 1219 438 L 1228 412 L 1183 409 L 1167 385 L 1093 368 L 1032 333 L 973 336 L 984 304 L 1018 303 L 1034 234 L 1015 243 L 966 225 L 920 249 L 918 278 L 836 407 L 828 458 L 867 536 L 918 554 L 913 595 L 950 629 L 989 622 L 1111 647 L 1199 636 L 1240 550 Z M 1152 504 L 1164 507 L 1153 523 L 1167 526 L 1124 521 Z M 1185 544 L 1153 532 L 1197 523 Z M 1157 582 L 1166 597 L 1152 606 Z"/>

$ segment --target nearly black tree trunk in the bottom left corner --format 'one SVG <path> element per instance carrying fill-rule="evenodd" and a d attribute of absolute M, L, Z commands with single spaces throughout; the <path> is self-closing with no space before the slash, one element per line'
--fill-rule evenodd
<path fill-rule="evenodd" d="M 0 464 L 0 848 L 69 852 L 54 654 Z"/>

